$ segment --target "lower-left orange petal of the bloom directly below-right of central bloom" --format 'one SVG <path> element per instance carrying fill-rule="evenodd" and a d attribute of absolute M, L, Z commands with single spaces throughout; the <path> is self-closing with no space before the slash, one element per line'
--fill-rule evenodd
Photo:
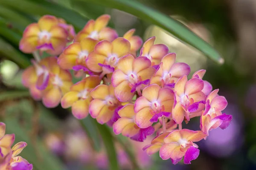
<path fill-rule="evenodd" d="M 143 108 L 135 115 L 135 122 L 140 128 L 147 128 L 152 125 L 149 120 L 152 118 L 150 107 Z"/>

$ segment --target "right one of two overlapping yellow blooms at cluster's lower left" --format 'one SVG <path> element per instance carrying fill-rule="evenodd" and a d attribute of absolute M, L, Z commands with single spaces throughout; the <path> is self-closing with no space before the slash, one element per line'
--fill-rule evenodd
<path fill-rule="evenodd" d="M 49 57 L 49 81 L 44 79 L 44 74 L 38 78 L 42 91 L 42 102 L 47 108 L 56 107 L 61 97 L 66 94 L 72 83 L 72 76 L 69 71 L 61 69 L 57 64 L 56 57 Z"/>

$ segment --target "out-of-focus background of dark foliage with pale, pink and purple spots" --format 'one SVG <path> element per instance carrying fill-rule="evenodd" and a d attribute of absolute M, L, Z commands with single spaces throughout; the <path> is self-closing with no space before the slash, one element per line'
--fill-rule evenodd
<path fill-rule="evenodd" d="M 32 58 L 18 50 L 18 42 L 24 28 L 43 14 L 70 15 L 78 32 L 88 18 L 107 13 L 119 36 L 136 28 L 143 40 L 156 36 L 156 43 L 168 45 L 170 52 L 177 54 L 177 62 L 191 66 L 192 74 L 206 69 L 204 79 L 213 89 L 220 89 L 219 94 L 229 102 L 224 113 L 233 115 L 226 130 L 212 130 L 206 141 L 199 142 L 200 156 L 191 165 L 174 166 L 169 160 L 162 161 L 158 153 L 147 156 L 142 148 L 151 139 L 138 143 L 113 136 L 109 141 L 116 148 L 120 169 L 131 169 L 134 162 L 151 170 L 256 169 L 256 0 L 138 1 L 185 24 L 221 54 L 224 64 L 215 64 L 146 20 L 86 0 L 0 0 L 0 120 L 6 123 L 7 133 L 16 134 L 15 142 L 28 143 L 21 156 L 34 164 L 34 170 L 109 169 L 106 138 L 98 132 L 102 126 L 97 127 L 89 117 L 81 123 L 61 106 L 48 109 L 33 101 L 21 84 L 25 64 L 15 64 L 17 58 L 24 62 Z M 199 118 L 192 119 L 186 127 L 199 130 L 199 123 Z M 110 132 L 106 132 L 107 139 Z"/>

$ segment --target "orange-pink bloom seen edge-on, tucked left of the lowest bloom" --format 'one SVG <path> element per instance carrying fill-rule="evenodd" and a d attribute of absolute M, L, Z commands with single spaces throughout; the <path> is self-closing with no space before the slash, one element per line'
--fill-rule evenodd
<path fill-rule="evenodd" d="M 152 141 L 151 141 L 151 144 L 147 144 L 145 147 L 143 147 L 143 150 L 146 151 L 146 153 L 148 155 L 152 155 L 154 153 L 157 153 L 160 148 L 163 146 L 163 144 L 165 144 L 163 142 L 163 139 L 169 135 L 170 132 L 165 132 L 165 133 L 162 133 L 158 136 L 156 136 Z"/>

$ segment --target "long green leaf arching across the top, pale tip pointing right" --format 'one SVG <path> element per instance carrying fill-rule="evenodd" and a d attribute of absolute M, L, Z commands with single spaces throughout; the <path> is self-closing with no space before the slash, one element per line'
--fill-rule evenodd
<path fill-rule="evenodd" d="M 221 58 L 218 51 L 216 51 L 211 45 L 205 42 L 203 39 L 198 37 L 195 33 L 189 30 L 182 23 L 171 17 L 162 14 L 161 12 L 149 8 L 134 0 L 81 0 L 85 2 L 96 3 L 102 6 L 116 8 L 121 11 L 133 14 L 142 20 L 149 21 L 166 31 L 169 31 L 177 39 L 186 42 L 189 45 L 197 48 L 199 51 L 203 52 L 207 57 L 215 62 L 222 64 L 224 59 Z"/>

